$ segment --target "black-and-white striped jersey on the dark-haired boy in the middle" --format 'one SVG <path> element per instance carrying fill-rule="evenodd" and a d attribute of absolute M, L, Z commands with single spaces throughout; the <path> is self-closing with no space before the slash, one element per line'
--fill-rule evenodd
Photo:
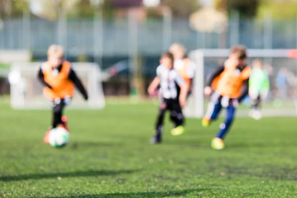
<path fill-rule="evenodd" d="M 175 69 L 167 69 L 163 65 L 157 67 L 157 76 L 160 78 L 160 91 L 164 99 L 176 99 L 178 86 L 185 83 Z"/>

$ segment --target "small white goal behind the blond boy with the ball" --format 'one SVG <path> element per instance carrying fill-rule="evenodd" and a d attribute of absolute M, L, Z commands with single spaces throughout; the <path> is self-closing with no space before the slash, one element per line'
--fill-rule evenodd
<path fill-rule="evenodd" d="M 15 62 L 8 76 L 10 103 L 15 109 L 48 109 L 50 103 L 43 97 L 43 85 L 37 78 L 40 62 Z M 72 67 L 88 92 L 85 101 L 78 90 L 69 109 L 101 109 L 105 106 L 99 65 L 88 62 L 74 62 Z"/>

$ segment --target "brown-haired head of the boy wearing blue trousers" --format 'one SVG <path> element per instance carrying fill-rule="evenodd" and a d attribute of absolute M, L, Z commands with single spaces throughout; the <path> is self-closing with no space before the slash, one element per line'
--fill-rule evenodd
<path fill-rule="evenodd" d="M 237 45 L 232 47 L 230 58 L 235 62 L 237 67 L 242 68 L 246 65 L 247 49 L 245 46 Z"/>

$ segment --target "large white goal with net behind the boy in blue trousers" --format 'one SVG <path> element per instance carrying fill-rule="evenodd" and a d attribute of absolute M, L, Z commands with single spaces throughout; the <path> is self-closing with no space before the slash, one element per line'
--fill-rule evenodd
<path fill-rule="evenodd" d="M 189 57 L 196 63 L 193 94 L 185 108 L 187 117 L 201 118 L 208 99 L 203 97 L 203 88 L 211 72 L 223 65 L 229 49 L 193 50 Z M 297 50 L 290 49 L 247 49 L 247 63 L 260 59 L 269 74 L 270 90 L 262 101 L 262 116 L 297 115 Z M 248 116 L 250 99 L 247 97 L 239 106 L 237 115 Z"/>

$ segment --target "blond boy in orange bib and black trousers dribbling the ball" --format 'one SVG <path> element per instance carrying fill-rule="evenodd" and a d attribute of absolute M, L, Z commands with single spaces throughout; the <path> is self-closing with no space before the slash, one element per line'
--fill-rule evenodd
<path fill-rule="evenodd" d="M 62 112 L 74 96 L 75 87 L 86 100 L 88 100 L 88 94 L 73 68 L 71 68 L 71 63 L 64 60 L 64 50 L 61 46 L 52 45 L 49 47 L 48 61 L 41 65 L 38 78 L 45 86 L 44 97 L 49 99 L 52 105 L 52 124 L 44 138 L 44 142 L 48 144 L 51 129 L 61 126 L 69 131 L 67 117 L 62 116 Z"/>

